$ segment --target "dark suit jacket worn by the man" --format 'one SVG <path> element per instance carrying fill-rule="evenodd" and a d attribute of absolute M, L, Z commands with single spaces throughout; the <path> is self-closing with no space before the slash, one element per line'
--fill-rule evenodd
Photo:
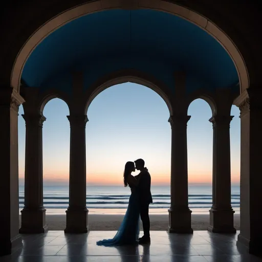
<path fill-rule="evenodd" d="M 138 191 L 139 191 L 139 198 L 141 204 L 149 204 L 153 203 L 152 195 L 150 191 L 151 187 L 151 177 L 147 169 L 142 170 L 138 175 L 137 178 L 141 176 L 139 184 L 138 184 Z"/>

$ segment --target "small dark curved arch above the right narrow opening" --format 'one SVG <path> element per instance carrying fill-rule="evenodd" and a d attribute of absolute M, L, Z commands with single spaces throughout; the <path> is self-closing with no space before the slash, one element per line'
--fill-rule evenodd
<path fill-rule="evenodd" d="M 215 99 L 213 97 L 212 94 L 210 94 L 209 92 L 207 92 L 206 90 L 198 90 L 196 92 L 193 92 L 191 95 L 188 96 L 188 100 L 187 100 L 187 112 L 188 112 L 188 108 L 189 105 L 196 99 L 203 99 L 204 101 L 206 101 L 212 111 L 212 116 L 214 116 L 217 112 L 217 105 L 215 102 Z"/>

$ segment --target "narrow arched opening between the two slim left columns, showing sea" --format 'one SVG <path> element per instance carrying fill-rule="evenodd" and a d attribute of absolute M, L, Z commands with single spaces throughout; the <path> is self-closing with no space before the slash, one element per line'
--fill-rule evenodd
<path fill-rule="evenodd" d="M 67 103 L 48 98 L 42 107 L 46 121 L 42 127 L 43 205 L 47 209 L 49 230 L 63 230 L 61 221 L 54 223 L 53 214 L 63 215 L 69 206 L 70 124 Z M 53 222 L 53 223 L 52 223 Z"/>

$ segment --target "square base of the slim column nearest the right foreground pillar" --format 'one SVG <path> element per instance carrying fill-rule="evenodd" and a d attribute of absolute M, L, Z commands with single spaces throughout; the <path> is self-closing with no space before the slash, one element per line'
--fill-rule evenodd
<path fill-rule="evenodd" d="M 217 210 L 211 208 L 210 225 L 207 230 L 213 233 L 235 233 L 234 228 L 234 210 Z"/>

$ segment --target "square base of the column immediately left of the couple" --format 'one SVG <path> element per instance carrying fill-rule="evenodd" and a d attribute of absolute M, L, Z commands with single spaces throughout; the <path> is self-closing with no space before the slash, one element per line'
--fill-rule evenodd
<path fill-rule="evenodd" d="M 88 232 L 88 209 L 71 209 L 67 211 L 67 227 L 64 233 L 87 233 Z"/>

